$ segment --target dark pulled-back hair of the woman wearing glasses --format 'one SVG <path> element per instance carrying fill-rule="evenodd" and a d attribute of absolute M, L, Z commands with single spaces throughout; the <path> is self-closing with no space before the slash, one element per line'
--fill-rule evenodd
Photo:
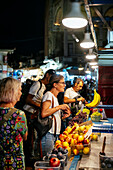
<path fill-rule="evenodd" d="M 57 74 L 52 75 L 49 80 L 50 89 L 52 89 L 54 83 L 58 83 L 63 78 L 64 77 L 62 75 L 57 75 Z"/>

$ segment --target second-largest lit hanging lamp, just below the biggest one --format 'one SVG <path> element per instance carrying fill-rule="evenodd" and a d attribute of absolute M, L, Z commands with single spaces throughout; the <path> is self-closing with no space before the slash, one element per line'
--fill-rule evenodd
<path fill-rule="evenodd" d="M 95 45 L 95 43 L 91 40 L 91 38 L 90 38 L 90 34 L 91 33 L 85 33 L 85 36 L 84 36 L 84 40 L 80 43 L 80 46 L 82 47 L 82 48 L 92 48 L 92 47 L 94 47 L 94 45 Z"/>

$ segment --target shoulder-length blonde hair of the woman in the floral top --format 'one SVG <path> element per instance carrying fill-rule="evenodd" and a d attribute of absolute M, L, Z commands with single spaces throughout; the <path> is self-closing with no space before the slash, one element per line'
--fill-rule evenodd
<path fill-rule="evenodd" d="M 21 82 L 12 77 L 4 78 L 0 81 L 0 102 L 10 103 L 17 101 L 18 91 Z"/>

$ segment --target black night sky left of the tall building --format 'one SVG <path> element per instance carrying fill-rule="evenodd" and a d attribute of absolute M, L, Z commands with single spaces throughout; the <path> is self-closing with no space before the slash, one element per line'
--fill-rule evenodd
<path fill-rule="evenodd" d="M 43 49 L 44 0 L 4 0 L 0 5 L 0 49 Z M 26 52 L 27 51 L 27 52 Z"/>

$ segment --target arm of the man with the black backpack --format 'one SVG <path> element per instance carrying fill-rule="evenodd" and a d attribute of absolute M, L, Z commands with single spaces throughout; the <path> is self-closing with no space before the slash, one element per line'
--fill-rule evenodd
<path fill-rule="evenodd" d="M 34 97 L 34 95 L 28 94 L 27 99 L 26 99 L 26 103 L 31 105 L 31 106 L 34 106 L 34 107 L 40 107 L 39 103 L 36 103 L 35 101 L 33 101 L 33 97 Z"/>

